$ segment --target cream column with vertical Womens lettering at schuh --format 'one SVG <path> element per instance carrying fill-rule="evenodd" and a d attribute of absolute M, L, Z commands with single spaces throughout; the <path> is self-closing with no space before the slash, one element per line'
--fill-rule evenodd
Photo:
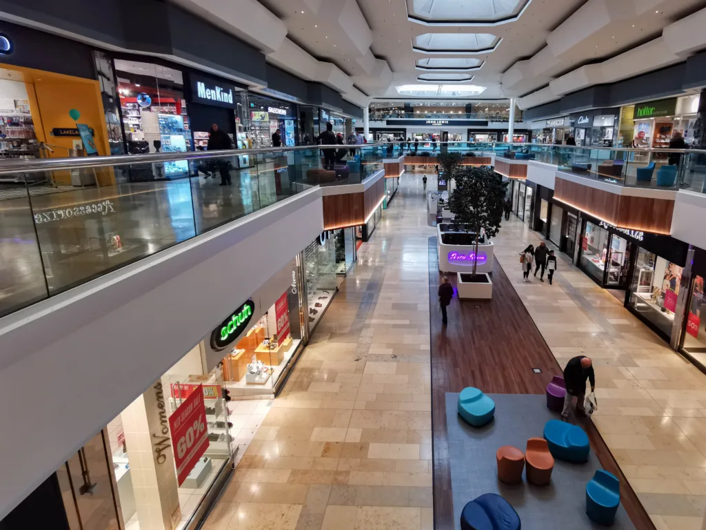
<path fill-rule="evenodd" d="M 181 521 L 167 391 L 157 381 L 121 413 L 140 530 L 172 530 Z"/>

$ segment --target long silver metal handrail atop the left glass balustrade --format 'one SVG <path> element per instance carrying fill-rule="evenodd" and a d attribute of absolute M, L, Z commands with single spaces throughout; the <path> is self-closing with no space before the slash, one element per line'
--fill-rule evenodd
<path fill-rule="evenodd" d="M 69 158 L 29 158 L 0 160 L 0 175 L 8 173 L 32 173 L 49 170 L 73 170 L 81 167 L 109 167 L 124 164 L 148 164 L 152 162 L 169 162 L 171 160 L 205 160 L 208 158 L 225 158 L 230 156 L 264 155 L 270 153 L 287 153 L 289 151 L 311 151 L 312 149 L 362 149 L 366 147 L 387 146 L 386 143 L 358 144 L 326 144 L 316 146 L 268 147 L 261 149 L 227 149 L 223 151 L 169 151 L 168 153 L 145 153 L 143 155 L 109 155 L 85 156 Z"/>

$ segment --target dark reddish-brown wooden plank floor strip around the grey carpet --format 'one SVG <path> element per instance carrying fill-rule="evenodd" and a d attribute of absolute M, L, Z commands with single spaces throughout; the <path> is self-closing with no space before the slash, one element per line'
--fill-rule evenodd
<path fill-rule="evenodd" d="M 441 325 L 436 237 L 429 238 L 429 306 L 431 324 L 431 429 L 433 444 L 433 512 L 436 530 L 453 530 L 445 394 L 477 387 L 489 394 L 544 394 L 554 375 L 561 375 L 554 355 L 534 324 L 512 283 L 496 260 L 493 299 L 459 302 L 448 307 L 448 326 Z M 450 275 L 452 285 L 455 275 Z M 539 368 L 536 374 L 532 368 Z M 572 418 L 589 435 L 601 465 L 621 481 L 623 506 L 635 528 L 654 529 L 652 520 L 630 488 L 590 419 Z"/>

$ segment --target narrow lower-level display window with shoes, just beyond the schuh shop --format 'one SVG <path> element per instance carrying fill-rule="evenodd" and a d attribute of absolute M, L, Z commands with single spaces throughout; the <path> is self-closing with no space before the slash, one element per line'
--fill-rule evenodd
<path fill-rule="evenodd" d="M 337 290 L 336 241 L 333 232 L 321 235 L 304 249 L 307 321 L 313 331 Z"/>

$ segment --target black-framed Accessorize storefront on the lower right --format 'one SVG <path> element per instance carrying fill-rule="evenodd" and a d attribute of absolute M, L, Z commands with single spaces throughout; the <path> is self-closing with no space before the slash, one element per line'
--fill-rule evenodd
<path fill-rule="evenodd" d="M 617 228 L 582 213 L 578 267 L 604 288 L 625 289 L 625 306 L 670 341 L 688 245 Z"/>

